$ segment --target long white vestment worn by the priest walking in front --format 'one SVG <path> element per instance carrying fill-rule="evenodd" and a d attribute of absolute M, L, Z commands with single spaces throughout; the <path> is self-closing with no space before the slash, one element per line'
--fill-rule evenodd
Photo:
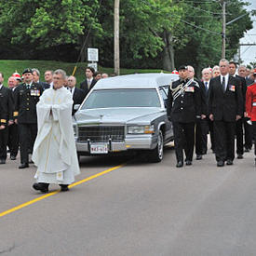
<path fill-rule="evenodd" d="M 70 184 L 80 173 L 72 123 L 70 91 L 49 88 L 36 104 L 38 132 L 32 160 L 37 182 Z"/>

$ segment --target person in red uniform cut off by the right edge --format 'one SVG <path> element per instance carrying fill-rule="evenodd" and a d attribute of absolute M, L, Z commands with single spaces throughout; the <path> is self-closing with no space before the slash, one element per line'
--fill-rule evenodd
<path fill-rule="evenodd" d="M 246 115 L 252 122 L 252 138 L 254 139 L 254 155 L 256 166 L 256 69 L 253 73 L 254 83 L 247 88 L 246 93 Z"/>

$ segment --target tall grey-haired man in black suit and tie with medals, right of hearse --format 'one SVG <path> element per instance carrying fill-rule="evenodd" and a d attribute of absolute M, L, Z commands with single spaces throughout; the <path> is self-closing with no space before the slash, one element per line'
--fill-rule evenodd
<path fill-rule="evenodd" d="M 243 95 L 238 80 L 229 75 L 229 61 L 220 61 L 221 75 L 209 82 L 209 119 L 213 121 L 217 166 L 233 165 L 236 121 L 243 115 Z"/>

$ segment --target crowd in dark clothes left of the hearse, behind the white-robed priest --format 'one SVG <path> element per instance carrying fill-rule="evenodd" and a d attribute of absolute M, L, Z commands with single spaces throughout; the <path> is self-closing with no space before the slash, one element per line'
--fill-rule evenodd
<path fill-rule="evenodd" d="M 27 68 L 20 75 L 14 73 L 7 78 L 7 87 L 4 86 L 4 74 L 0 72 L 0 164 L 7 160 L 7 148 L 11 160 L 16 160 L 20 148 L 20 167 L 28 168 L 29 159 L 33 153 L 34 140 L 37 134 L 36 104 L 40 96 L 48 89 L 53 88 L 52 70 L 45 72 L 45 81 L 40 80 L 38 69 Z M 74 75 L 65 75 L 63 86 L 72 94 L 74 105 L 81 104 L 101 78 L 108 74 L 95 72 L 92 67 L 85 70 L 86 79 L 76 88 Z"/>

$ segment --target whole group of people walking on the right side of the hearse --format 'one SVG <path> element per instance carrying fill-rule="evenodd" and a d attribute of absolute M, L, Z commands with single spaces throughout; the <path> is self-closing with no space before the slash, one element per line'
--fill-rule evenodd
<path fill-rule="evenodd" d="M 178 74 L 168 91 L 176 167 L 192 165 L 194 147 L 196 160 L 207 154 L 208 134 L 217 167 L 233 165 L 235 139 L 237 159 L 242 159 L 256 139 L 256 69 L 222 59 L 219 66 L 204 68 L 200 80 L 192 66 L 181 66 Z"/>

